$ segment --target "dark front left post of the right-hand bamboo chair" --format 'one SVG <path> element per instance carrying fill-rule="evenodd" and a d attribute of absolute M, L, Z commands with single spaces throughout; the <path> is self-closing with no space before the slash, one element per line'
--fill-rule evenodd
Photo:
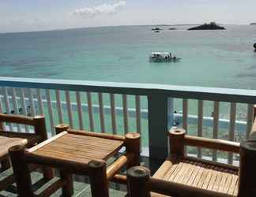
<path fill-rule="evenodd" d="M 128 195 L 130 197 L 150 197 L 149 169 L 135 166 L 127 171 Z"/>

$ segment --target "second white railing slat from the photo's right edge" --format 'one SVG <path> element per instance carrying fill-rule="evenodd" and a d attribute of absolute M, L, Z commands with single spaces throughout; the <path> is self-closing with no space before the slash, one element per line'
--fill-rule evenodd
<path fill-rule="evenodd" d="M 230 118 L 229 118 L 229 132 L 228 139 L 230 141 L 235 141 L 235 113 L 236 113 L 236 103 L 230 103 Z M 233 164 L 233 154 L 228 153 L 228 164 Z"/>

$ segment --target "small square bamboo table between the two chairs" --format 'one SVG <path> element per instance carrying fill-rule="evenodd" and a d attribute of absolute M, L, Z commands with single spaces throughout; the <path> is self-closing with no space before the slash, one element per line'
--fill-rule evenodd
<path fill-rule="evenodd" d="M 21 147 L 10 150 L 19 195 L 35 196 L 29 176 L 25 176 L 28 180 L 24 181 L 24 171 L 26 171 L 24 169 L 27 169 L 28 163 L 50 165 L 60 169 L 61 179 L 43 191 L 40 196 L 51 195 L 61 187 L 63 196 L 73 195 L 72 173 L 77 173 L 89 176 L 92 196 L 105 197 L 108 196 L 108 181 L 124 165 L 128 167 L 139 165 L 140 135 L 137 133 L 128 133 L 126 136 L 108 135 L 73 130 L 67 125 L 58 125 L 56 132 L 58 135 L 27 151 Z M 126 154 L 107 167 L 107 159 L 122 147 L 126 147 Z M 21 161 L 25 162 L 21 164 Z"/>

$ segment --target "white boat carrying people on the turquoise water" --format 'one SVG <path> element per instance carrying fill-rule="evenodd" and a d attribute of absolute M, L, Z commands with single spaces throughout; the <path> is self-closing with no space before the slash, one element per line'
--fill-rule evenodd
<path fill-rule="evenodd" d="M 149 61 L 152 62 L 174 62 L 179 60 L 181 58 L 177 58 L 169 52 L 152 52 L 149 55 Z"/>

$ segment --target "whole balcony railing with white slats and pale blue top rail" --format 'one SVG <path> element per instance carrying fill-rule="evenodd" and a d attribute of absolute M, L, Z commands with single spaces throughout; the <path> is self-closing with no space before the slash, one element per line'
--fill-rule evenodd
<path fill-rule="evenodd" d="M 189 100 L 195 100 L 197 115 L 190 114 Z M 181 100 L 182 111 L 176 110 Z M 213 117 L 204 116 L 205 101 L 213 104 Z M 220 118 L 220 102 L 228 102 L 228 116 Z M 243 103 L 245 118 L 237 119 L 237 106 Z M 240 140 L 249 136 L 256 91 L 209 87 L 184 87 L 160 84 L 127 84 L 81 80 L 43 80 L 0 77 L 0 110 L 25 115 L 44 113 L 50 136 L 54 127 L 66 122 L 71 128 L 95 132 L 139 132 L 142 147 L 149 147 L 150 158 L 165 158 L 168 150 L 167 131 L 179 125 L 194 135 Z M 194 113 L 194 112 L 193 112 Z M 192 126 L 191 126 L 192 125 Z M 15 125 L 8 125 L 13 129 Z M 29 132 L 28 127 L 17 127 Z M 226 135 L 220 135 L 220 131 Z M 196 151 L 202 157 L 201 149 Z M 216 151 L 211 154 L 218 160 Z M 228 154 L 228 162 L 234 162 Z"/>

